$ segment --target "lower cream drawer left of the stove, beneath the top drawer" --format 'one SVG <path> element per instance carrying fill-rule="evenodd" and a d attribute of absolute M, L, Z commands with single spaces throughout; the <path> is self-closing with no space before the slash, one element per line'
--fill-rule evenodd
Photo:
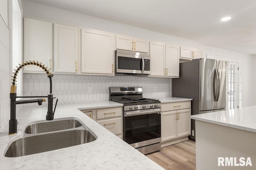
<path fill-rule="evenodd" d="M 116 119 L 101 120 L 97 122 L 115 135 L 121 134 L 121 117 Z"/>

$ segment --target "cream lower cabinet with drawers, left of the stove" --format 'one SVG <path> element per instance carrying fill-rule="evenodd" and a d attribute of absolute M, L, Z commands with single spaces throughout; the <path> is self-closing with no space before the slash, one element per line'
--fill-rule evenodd
<path fill-rule="evenodd" d="M 122 107 L 81 111 L 122 139 Z"/>

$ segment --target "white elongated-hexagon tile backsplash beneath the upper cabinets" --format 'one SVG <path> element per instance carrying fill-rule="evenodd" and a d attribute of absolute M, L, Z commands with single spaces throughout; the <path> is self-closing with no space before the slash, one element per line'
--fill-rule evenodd
<path fill-rule="evenodd" d="M 109 98 L 111 86 L 142 86 L 143 97 L 169 97 L 170 78 L 151 78 L 145 76 L 88 76 L 54 74 L 52 94 L 60 103 L 105 101 Z M 88 92 L 92 87 L 92 93 Z M 23 76 L 24 96 L 47 96 L 50 81 L 46 74 L 28 74 Z"/>

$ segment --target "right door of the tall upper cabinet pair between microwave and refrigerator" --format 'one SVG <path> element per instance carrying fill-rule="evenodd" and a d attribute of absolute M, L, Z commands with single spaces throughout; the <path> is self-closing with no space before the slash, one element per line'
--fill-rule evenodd
<path fill-rule="evenodd" d="M 168 77 L 179 77 L 179 55 L 180 47 L 174 45 L 167 45 L 165 48 L 165 68 L 166 76 Z"/>

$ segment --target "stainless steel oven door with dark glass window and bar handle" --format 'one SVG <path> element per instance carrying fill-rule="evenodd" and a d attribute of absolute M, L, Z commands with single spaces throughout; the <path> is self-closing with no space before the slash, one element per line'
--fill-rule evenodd
<path fill-rule="evenodd" d="M 124 111 L 124 141 L 134 148 L 159 143 L 160 111 L 161 109 Z"/>

